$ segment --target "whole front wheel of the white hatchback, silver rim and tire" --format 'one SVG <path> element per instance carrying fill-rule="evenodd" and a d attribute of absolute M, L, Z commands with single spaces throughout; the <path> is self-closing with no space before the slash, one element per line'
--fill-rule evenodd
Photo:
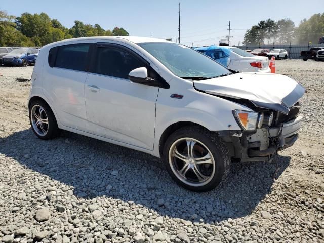
<path fill-rule="evenodd" d="M 199 127 L 184 127 L 164 145 L 167 171 L 179 185 L 192 191 L 210 191 L 230 168 L 228 148 L 216 134 Z"/>

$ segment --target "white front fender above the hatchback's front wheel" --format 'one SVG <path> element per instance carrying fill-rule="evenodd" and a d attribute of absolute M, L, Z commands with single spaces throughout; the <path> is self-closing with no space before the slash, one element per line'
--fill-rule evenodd
<path fill-rule="evenodd" d="M 161 135 L 172 124 L 189 121 L 210 131 L 241 130 L 232 110 L 252 111 L 244 105 L 197 91 L 193 88 L 191 81 L 182 79 L 181 82 L 183 84 L 179 86 L 179 89 L 176 88 L 174 82 L 171 82 L 172 89 L 159 90 L 156 102 L 154 148 L 152 151 L 154 156 L 159 156 Z M 171 98 L 174 93 L 183 95 L 183 98 Z"/>

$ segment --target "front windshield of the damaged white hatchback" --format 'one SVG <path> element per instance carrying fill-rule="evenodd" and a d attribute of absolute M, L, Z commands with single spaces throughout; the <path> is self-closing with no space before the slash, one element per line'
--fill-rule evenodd
<path fill-rule="evenodd" d="M 140 47 L 179 77 L 204 77 L 231 74 L 211 58 L 181 44 L 168 42 L 139 43 Z"/>

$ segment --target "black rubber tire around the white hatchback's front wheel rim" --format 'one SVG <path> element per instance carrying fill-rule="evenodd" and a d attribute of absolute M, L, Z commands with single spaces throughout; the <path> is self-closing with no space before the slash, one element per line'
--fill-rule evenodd
<path fill-rule="evenodd" d="M 174 146 L 174 144 L 176 144 L 177 141 L 185 138 L 197 140 L 199 143 L 203 144 L 208 148 L 209 151 L 206 150 L 207 152 L 210 152 L 212 154 L 212 158 L 214 160 L 214 163 L 212 165 L 215 167 L 214 174 L 212 174 L 213 176 L 210 175 L 208 177 L 209 179 L 206 182 L 204 182 L 206 183 L 204 185 L 188 185 L 186 183 L 186 181 L 188 180 L 186 179 L 180 180 L 176 175 L 177 173 L 173 171 L 173 169 L 175 170 L 175 167 L 173 167 L 173 169 L 171 168 L 171 166 L 174 165 L 174 159 L 175 159 L 174 157 L 172 157 L 171 158 L 172 160 L 171 161 L 169 160 L 169 155 L 171 156 L 171 152 L 172 152 L 171 151 L 172 146 Z M 195 143 L 195 144 L 197 144 L 199 147 L 200 145 L 199 143 Z M 193 147 L 196 146 L 195 144 L 193 145 Z M 193 147 L 192 147 L 192 151 L 194 151 Z M 176 149 L 178 151 L 178 147 L 176 147 Z M 194 155 L 192 156 L 194 157 Z M 210 191 L 215 187 L 217 187 L 222 181 L 224 181 L 229 172 L 230 161 L 231 161 L 228 148 L 226 147 L 224 142 L 219 137 L 216 136 L 216 134 L 208 130 L 199 127 L 194 127 L 194 126 L 180 128 L 169 136 L 166 143 L 164 144 L 163 158 L 164 158 L 164 163 L 167 168 L 167 171 L 175 182 L 177 182 L 180 186 L 188 190 L 198 191 L 198 192 Z M 183 166 L 183 168 L 184 167 L 185 166 Z M 192 170 L 191 172 L 193 172 L 193 169 L 191 170 Z M 187 173 L 188 172 L 189 170 L 187 170 Z M 206 174 L 204 176 L 206 176 Z"/>

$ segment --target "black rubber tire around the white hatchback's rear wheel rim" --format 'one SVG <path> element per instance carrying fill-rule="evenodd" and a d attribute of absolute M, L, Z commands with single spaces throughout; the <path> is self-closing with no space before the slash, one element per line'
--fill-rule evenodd
<path fill-rule="evenodd" d="M 39 129 L 38 129 L 38 132 L 35 130 L 36 128 L 34 128 L 33 126 L 33 123 L 32 123 L 32 110 L 33 110 L 33 107 L 42 107 L 45 111 L 45 114 L 47 116 L 47 119 L 48 119 L 48 125 L 47 125 L 47 132 L 46 134 L 42 135 L 42 134 L 39 134 Z M 34 132 L 34 134 L 38 137 L 38 138 L 41 138 L 41 139 L 44 139 L 44 140 L 48 140 L 48 139 L 52 139 L 52 138 L 55 138 L 59 135 L 59 128 L 57 126 L 57 121 L 56 121 L 56 118 L 53 114 L 53 111 L 52 109 L 50 108 L 50 106 L 43 100 L 34 100 L 30 103 L 29 105 L 29 123 L 30 123 L 30 126 Z"/>

